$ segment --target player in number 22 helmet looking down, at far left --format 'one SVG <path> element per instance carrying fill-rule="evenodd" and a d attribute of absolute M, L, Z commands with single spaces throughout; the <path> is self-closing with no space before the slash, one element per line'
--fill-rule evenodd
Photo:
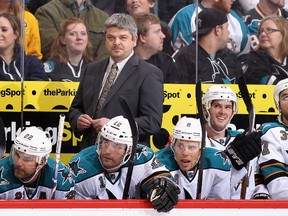
<path fill-rule="evenodd" d="M 47 132 L 29 127 L 16 137 L 9 157 L 0 161 L 0 199 L 50 199 L 55 161 Z M 73 199 L 69 169 L 58 166 L 55 199 Z"/>

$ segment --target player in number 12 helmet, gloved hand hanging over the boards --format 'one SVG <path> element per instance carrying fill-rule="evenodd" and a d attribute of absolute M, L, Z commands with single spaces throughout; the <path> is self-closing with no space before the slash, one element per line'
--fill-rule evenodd
<path fill-rule="evenodd" d="M 122 199 L 131 156 L 132 134 L 123 116 L 106 123 L 97 144 L 82 150 L 70 162 L 76 199 Z M 178 202 L 179 189 L 154 152 L 138 145 L 129 188 L 129 199 L 147 198 L 158 212 L 170 211 Z M 143 194 L 143 196 L 141 196 Z"/>

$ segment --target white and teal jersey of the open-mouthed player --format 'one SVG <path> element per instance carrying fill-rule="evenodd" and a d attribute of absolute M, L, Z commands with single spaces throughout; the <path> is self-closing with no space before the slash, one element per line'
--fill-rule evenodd
<path fill-rule="evenodd" d="M 179 185 L 179 199 L 196 199 L 199 164 L 194 170 L 182 172 L 170 146 L 156 152 L 156 155 Z M 231 176 L 227 158 L 222 151 L 213 148 L 205 149 L 201 199 L 230 199 L 230 191 L 227 188 L 230 188 Z"/>

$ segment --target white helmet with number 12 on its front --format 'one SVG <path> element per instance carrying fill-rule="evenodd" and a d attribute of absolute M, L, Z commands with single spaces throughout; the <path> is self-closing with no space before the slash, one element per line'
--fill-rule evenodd
<path fill-rule="evenodd" d="M 126 163 L 130 158 L 130 153 L 132 149 L 132 132 L 130 128 L 129 121 L 123 116 L 116 116 L 110 119 L 103 127 L 97 138 L 97 153 L 100 159 L 101 143 L 104 139 L 110 140 L 114 143 L 125 144 L 127 145 L 126 154 L 123 158 L 123 162 L 117 166 L 120 167 Z M 103 164 L 102 164 L 103 166 Z M 117 168 L 115 167 L 115 168 Z M 104 167 L 106 169 L 106 167 Z M 113 168 L 113 169 L 115 169 Z M 108 169 L 107 169 L 108 170 Z"/>

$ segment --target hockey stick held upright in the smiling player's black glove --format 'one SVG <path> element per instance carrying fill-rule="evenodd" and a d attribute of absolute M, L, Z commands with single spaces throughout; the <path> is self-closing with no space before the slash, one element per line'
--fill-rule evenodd
<path fill-rule="evenodd" d="M 252 103 L 252 100 L 249 95 L 249 91 L 247 88 L 246 80 L 244 76 L 241 76 L 238 80 L 238 87 L 241 92 L 242 99 L 246 105 L 246 109 L 248 111 L 248 117 L 249 117 L 249 129 L 248 129 L 248 134 L 252 133 L 254 130 L 254 125 L 255 125 L 255 109 Z M 249 170 L 250 163 L 247 163 L 247 172 Z M 246 198 L 246 190 L 247 190 L 247 184 L 248 184 L 248 173 L 243 177 L 242 179 L 242 188 L 241 188 L 241 199 Z"/>

